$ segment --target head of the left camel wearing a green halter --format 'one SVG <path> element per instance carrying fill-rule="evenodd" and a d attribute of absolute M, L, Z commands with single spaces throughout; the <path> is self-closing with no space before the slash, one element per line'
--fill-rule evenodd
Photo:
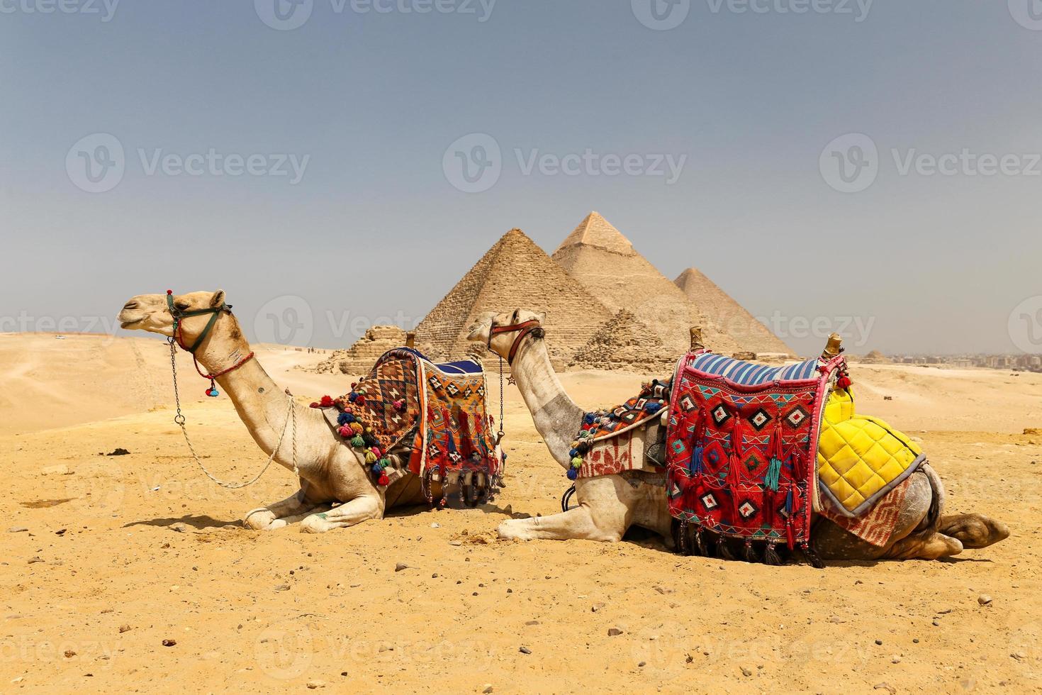
<path fill-rule="evenodd" d="M 172 296 L 174 309 L 178 313 L 191 314 L 193 312 L 215 309 L 224 306 L 224 290 L 217 292 L 190 292 L 183 295 Z M 242 330 L 239 321 L 231 315 L 228 306 L 225 311 L 218 313 L 218 318 L 214 327 L 203 341 L 200 348 L 205 347 L 215 339 L 241 341 Z M 178 339 L 182 346 L 193 345 L 206 328 L 213 314 L 200 314 L 197 316 L 184 317 L 180 321 Z M 119 315 L 120 327 L 127 330 L 147 330 L 151 333 L 159 333 L 171 338 L 174 334 L 174 317 L 170 313 L 167 303 L 167 295 L 138 295 L 123 305 Z"/>

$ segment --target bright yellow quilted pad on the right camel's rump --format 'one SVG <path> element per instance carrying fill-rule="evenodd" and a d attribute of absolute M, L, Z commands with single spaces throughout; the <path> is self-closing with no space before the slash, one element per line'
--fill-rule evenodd
<path fill-rule="evenodd" d="M 915 442 L 883 420 L 857 415 L 849 389 L 833 391 L 818 440 L 819 492 L 857 517 L 925 461 Z"/>

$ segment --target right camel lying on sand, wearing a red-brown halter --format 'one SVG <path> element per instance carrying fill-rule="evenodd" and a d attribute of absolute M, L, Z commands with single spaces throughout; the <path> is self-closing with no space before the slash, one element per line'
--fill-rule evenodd
<path fill-rule="evenodd" d="M 511 373 L 536 428 L 553 458 L 568 470 L 568 452 L 585 411 L 565 392 L 550 364 L 540 326 L 544 318 L 543 314 L 523 309 L 486 314 L 471 326 L 469 340 L 483 343 L 511 363 Z M 635 457 L 644 455 L 646 433 L 646 426 L 635 430 Z M 661 475 L 655 477 L 658 485 L 650 474 L 641 471 L 580 477 L 575 480 L 577 506 L 547 517 L 504 521 L 498 533 L 503 539 L 618 542 L 630 525 L 638 525 L 661 535 L 667 547 L 673 547 L 673 519 L 665 486 Z M 943 516 L 943 505 L 940 477 L 924 464 L 921 472 L 912 476 L 898 523 L 885 547 L 866 543 L 817 515 L 813 546 L 825 560 L 936 560 L 958 554 L 964 548 L 987 547 L 1010 535 L 1004 524 L 978 514 Z M 730 554 L 726 547 L 721 552 Z"/>

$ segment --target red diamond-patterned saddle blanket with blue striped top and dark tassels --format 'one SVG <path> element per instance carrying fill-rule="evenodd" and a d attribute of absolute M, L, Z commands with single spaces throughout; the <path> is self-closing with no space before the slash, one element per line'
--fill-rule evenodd
<path fill-rule="evenodd" d="M 670 514 L 681 552 L 701 533 L 808 550 L 822 409 L 845 361 L 787 367 L 705 351 L 677 366 L 666 436 Z M 810 557 L 810 554 L 809 554 Z M 812 561 L 813 562 L 813 561 Z"/>

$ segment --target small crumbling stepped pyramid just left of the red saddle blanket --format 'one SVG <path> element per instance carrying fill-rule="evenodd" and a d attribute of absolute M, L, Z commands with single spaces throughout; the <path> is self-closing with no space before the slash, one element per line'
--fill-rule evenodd
<path fill-rule="evenodd" d="M 575 369 L 671 370 L 674 356 L 631 312 L 620 309 L 580 347 Z"/>

